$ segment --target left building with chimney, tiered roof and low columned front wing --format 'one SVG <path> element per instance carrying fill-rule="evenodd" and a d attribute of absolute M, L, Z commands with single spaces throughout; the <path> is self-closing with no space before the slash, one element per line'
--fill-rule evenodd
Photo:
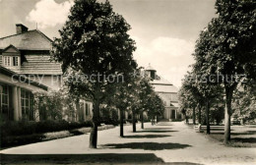
<path fill-rule="evenodd" d="M 16 34 L 0 38 L 0 107 L 1 114 L 14 114 L 8 115 L 10 120 L 34 120 L 32 91 L 60 89 L 62 70 L 59 63 L 50 60 L 51 43 L 38 29 L 29 30 L 21 24 L 16 25 Z M 27 83 L 10 80 L 14 75 L 23 75 Z M 33 83 L 29 85 L 28 80 Z M 92 114 L 90 101 L 81 100 L 76 107 L 72 121 Z"/>

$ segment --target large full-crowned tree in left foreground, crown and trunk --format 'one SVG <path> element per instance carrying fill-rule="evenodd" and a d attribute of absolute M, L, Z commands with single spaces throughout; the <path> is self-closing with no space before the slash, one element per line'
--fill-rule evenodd
<path fill-rule="evenodd" d="M 91 148 L 96 148 L 99 104 L 106 88 L 118 83 L 120 76 L 126 81 L 136 68 L 132 55 L 135 42 L 127 33 L 130 28 L 108 1 L 76 0 L 68 21 L 59 30 L 60 37 L 53 41 L 52 54 L 68 75 L 70 92 L 93 100 Z"/>

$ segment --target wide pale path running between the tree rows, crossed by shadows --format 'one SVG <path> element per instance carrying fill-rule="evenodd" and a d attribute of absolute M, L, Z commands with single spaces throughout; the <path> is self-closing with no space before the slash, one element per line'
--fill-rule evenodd
<path fill-rule="evenodd" d="M 30 159 L 32 164 L 256 164 L 256 148 L 226 147 L 195 133 L 181 122 L 166 122 L 157 126 L 145 124 L 144 130 L 137 125 L 137 128 L 138 133 L 132 133 L 132 126 L 126 126 L 125 138 L 118 137 L 119 127 L 98 132 L 97 149 L 88 148 L 90 135 L 83 135 L 9 148 L 0 152 L 5 153 L 1 158 L 14 164 L 28 163 L 26 159 Z"/>

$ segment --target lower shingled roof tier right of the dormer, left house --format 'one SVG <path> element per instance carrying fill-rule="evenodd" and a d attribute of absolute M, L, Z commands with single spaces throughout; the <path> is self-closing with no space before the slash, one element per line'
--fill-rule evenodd
<path fill-rule="evenodd" d="M 62 75 L 61 64 L 50 61 L 49 55 L 26 55 L 19 74 Z"/>

